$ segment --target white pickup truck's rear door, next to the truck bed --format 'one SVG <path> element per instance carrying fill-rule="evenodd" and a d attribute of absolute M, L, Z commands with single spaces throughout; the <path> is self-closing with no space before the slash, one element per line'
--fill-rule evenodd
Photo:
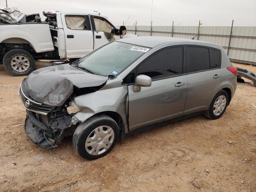
<path fill-rule="evenodd" d="M 62 14 L 67 58 L 81 58 L 93 51 L 93 32 L 85 14 Z"/>

